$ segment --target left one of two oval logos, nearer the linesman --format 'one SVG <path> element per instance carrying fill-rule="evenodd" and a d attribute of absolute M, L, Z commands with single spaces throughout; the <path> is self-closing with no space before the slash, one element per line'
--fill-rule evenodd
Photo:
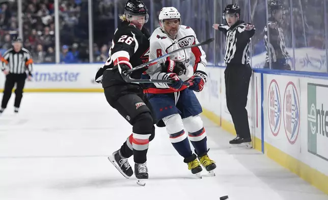
<path fill-rule="evenodd" d="M 281 98 L 278 83 L 273 79 L 268 90 L 268 118 L 271 132 L 277 136 L 281 123 Z"/>

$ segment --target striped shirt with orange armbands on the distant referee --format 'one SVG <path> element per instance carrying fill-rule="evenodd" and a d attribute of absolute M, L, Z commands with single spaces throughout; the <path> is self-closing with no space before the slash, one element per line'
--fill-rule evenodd
<path fill-rule="evenodd" d="M 29 71 L 32 75 L 33 60 L 31 53 L 26 48 L 21 48 L 19 52 L 15 52 L 13 48 L 8 49 L 1 58 L 2 70 L 8 70 L 10 73 L 20 74 Z"/>

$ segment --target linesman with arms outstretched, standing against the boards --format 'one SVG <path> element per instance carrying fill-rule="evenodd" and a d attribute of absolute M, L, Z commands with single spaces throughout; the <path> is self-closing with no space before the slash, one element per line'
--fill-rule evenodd
<path fill-rule="evenodd" d="M 252 76 L 249 47 L 255 28 L 251 23 L 245 24 L 239 17 L 240 7 L 237 4 L 229 4 L 223 12 L 223 18 L 226 19 L 228 26 L 213 24 L 214 29 L 222 31 L 227 37 L 224 58 L 227 64 L 225 69 L 227 107 L 237 133 L 237 137 L 231 140 L 230 144 L 252 141 L 245 107 Z"/>

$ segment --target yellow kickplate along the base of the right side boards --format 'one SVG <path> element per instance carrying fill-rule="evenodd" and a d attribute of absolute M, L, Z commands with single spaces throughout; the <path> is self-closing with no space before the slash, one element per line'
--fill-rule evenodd
<path fill-rule="evenodd" d="M 236 135 L 233 123 L 223 119 L 220 116 L 215 115 L 213 112 L 204 108 L 202 114 L 214 123 L 218 124 L 218 126 L 221 126 L 222 129 L 226 130 L 230 134 Z M 255 148 L 257 151 L 262 152 L 261 139 L 252 136 L 252 140 L 253 148 Z M 267 142 L 264 142 L 264 148 L 264 154 L 267 157 L 274 160 L 281 166 L 289 169 L 291 172 L 297 174 L 298 177 L 315 186 L 325 194 L 328 194 L 328 177 L 325 174 L 319 172 L 314 168 L 311 168 L 309 165 L 293 158 L 292 156 L 289 156 L 288 154 L 284 153 L 280 149 L 270 145 Z"/>

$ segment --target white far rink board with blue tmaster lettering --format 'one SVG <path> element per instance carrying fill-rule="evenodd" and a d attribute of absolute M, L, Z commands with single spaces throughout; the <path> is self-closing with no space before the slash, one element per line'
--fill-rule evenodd
<path fill-rule="evenodd" d="M 33 81 L 26 81 L 26 89 L 89 89 L 101 88 L 94 82 L 102 64 L 35 64 Z M 5 76 L 0 73 L 0 88 L 4 88 Z"/>

